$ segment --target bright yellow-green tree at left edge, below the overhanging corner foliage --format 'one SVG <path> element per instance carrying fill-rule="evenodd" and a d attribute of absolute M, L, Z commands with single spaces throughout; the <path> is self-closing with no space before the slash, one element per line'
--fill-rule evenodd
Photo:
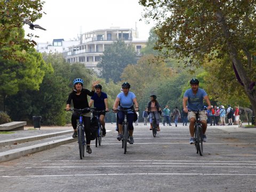
<path fill-rule="evenodd" d="M 35 49 L 29 49 L 25 58 L 25 61 L 18 62 L 0 57 L 0 95 L 3 105 L 8 95 L 16 94 L 19 90 L 39 90 L 44 75 L 52 70 L 51 65 L 46 64 L 41 53 Z"/>

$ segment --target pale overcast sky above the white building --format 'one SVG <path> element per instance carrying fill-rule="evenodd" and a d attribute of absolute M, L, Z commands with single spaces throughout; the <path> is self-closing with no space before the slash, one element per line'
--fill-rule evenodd
<path fill-rule="evenodd" d="M 30 30 L 25 25 L 25 34 L 33 33 L 39 38 L 33 38 L 38 43 L 52 42 L 53 39 L 64 38 L 65 41 L 77 38 L 82 33 L 107 29 L 110 27 L 133 28 L 135 22 L 140 39 L 147 39 L 149 25 L 142 19 L 143 7 L 139 0 L 44 0 L 43 17 L 34 24 L 45 28 Z M 67 3 L 68 2 L 68 3 Z M 142 21 L 139 21 L 142 19 Z"/>

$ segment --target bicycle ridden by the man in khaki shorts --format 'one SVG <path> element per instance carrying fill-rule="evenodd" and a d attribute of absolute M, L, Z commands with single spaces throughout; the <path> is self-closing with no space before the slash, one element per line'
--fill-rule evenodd
<path fill-rule="evenodd" d="M 202 123 L 200 121 L 200 115 L 199 112 L 201 110 L 197 110 L 196 112 L 196 120 L 195 120 L 195 147 L 196 147 L 196 153 L 203 156 L 203 128 Z"/>

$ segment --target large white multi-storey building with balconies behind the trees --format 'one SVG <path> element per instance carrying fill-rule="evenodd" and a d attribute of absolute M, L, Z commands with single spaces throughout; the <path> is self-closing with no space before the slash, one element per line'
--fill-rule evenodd
<path fill-rule="evenodd" d="M 69 63 L 81 62 L 87 68 L 97 69 L 97 64 L 101 60 L 101 55 L 107 46 L 122 39 L 125 44 L 134 46 L 137 57 L 141 56 L 140 50 L 146 46 L 147 40 L 140 40 L 138 32 L 133 29 L 99 29 L 81 34 L 80 43 L 69 47 L 67 53 L 63 53 Z"/>

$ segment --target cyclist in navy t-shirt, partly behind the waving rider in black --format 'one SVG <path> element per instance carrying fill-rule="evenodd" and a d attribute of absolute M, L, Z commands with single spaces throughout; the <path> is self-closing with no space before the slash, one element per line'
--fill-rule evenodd
<path fill-rule="evenodd" d="M 97 84 L 95 85 L 95 93 L 92 95 L 91 100 L 89 102 L 89 106 L 92 106 L 92 103 L 94 103 L 94 107 L 96 108 L 96 111 L 100 110 L 106 110 L 108 111 L 108 97 L 107 94 L 102 92 L 102 85 Z M 99 113 L 99 120 L 100 124 L 102 126 L 102 137 L 106 136 L 106 129 L 105 129 L 105 115 L 106 112 Z"/>

